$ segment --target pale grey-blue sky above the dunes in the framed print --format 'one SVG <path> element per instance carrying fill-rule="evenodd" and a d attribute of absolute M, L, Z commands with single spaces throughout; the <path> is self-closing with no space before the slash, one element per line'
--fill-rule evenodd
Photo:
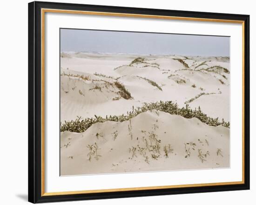
<path fill-rule="evenodd" d="M 229 37 L 61 29 L 61 51 L 229 56 Z"/>

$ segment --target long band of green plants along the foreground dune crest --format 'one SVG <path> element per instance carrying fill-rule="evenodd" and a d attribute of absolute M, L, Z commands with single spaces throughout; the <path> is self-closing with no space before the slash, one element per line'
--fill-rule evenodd
<path fill-rule="evenodd" d="M 136 109 L 133 109 L 130 112 L 127 112 L 127 115 L 113 115 L 113 116 L 106 116 L 106 118 L 103 118 L 101 116 L 96 116 L 95 118 L 86 118 L 82 119 L 81 117 L 78 117 L 76 120 L 71 120 L 69 122 L 64 121 L 64 123 L 61 123 L 61 132 L 63 131 L 70 131 L 70 132 L 84 132 L 89 127 L 91 127 L 93 124 L 97 122 L 107 122 L 107 121 L 114 121 L 114 122 L 124 122 L 128 121 L 131 118 L 141 114 L 142 112 L 146 112 L 148 110 L 158 110 L 162 112 L 169 113 L 171 115 L 181 115 L 185 118 L 193 118 L 196 117 L 201 122 L 204 122 L 208 124 L 209 126 L 219 126 L 222 125 L 226 128 L 229 128 L 230 123 L 225 122 L 222 119 L 222 122 L 219 121 L 218 118 L 211 118 L 204 114 L 200 107 L 198 109 L 190 109 L 189 105 L 187 104 L 184 108 L 179 108 L 177 103 L 173 103 L 172 101 L 160 101 L 160 102 L 151 102 L 151 103 L 144 103 L 144 106 L 138 107 Z"/>

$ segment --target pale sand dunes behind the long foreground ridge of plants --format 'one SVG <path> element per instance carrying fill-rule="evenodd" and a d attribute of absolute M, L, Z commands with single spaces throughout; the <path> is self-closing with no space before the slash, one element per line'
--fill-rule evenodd
<path fill-rule="evenodd" d="M 198 108 L 200 105 L 206 114 L 211 115 L 213 113 L 211 110 L 214 110 L 214 117 L 229 120 L 229 102 L 227 103 L 229 73 L 225 73 L 220 68 L 211 68 L 223 66 L 229 69 L 228 58 L 187 57 L 189 59 L 184 59 L 181 56 L 146 56 L 141 57 L 145 59 L 143 62 L 132 64 L 138 56 L 67 53 L 62 57 L 61 73 L 88 76 L 91 80 L 102 80 L 102 82 L 91 81 L 89 83 L 81 78 L 61 76 L 61 108 L 63 108 L 61 110 L 65 110 L 61 113 L 61 121 L 74 120 L 77 115 L 83 117 L 91 117 L 95 114 L 121 115 L 130 111 L 132 106 L 137 107 L 143 102 L 160 100 L 174 101 L 183 107 L 184 102 L 202 92 L 216 93 L 217 104 L 209 104 L 212 98 L 207 95 L 203 96 L 205 100 L 200 101 L 201 97 L 197 99 L 200 104 L 191 102 L 189 106 Z M 183 59 L 189 68 L 177 59 Z M 198 66 L 203 63 L 204 65 Z M 211 68 L 210 71 L 207 70 L 208 68 Z M 162 88 L 162 91 L 142 78 L 154 81 Z M 113 98 L 118 97 L 117 90 L 112 87 L 104 89 L 103 87 L 108 83 L 103 81 L 121 82 L 131 93 L 133 99 L 126 101 L 120 98 L 114 102 Z M 90 90 L 93 86 L 95 87 L 95 84 L 102 87 L 102 90 Z M 194 85 L 195 88 L 192 87 Z M 81 90 L 80 93 L 79 90 Z M 80 95 L 81 93 L 84 96 Z M 111 109 L 113 104 L 114 110 Z M 222 107 L 222 104 L 225 105 L 225 109 L 215 109 L 215 107 Z"/>

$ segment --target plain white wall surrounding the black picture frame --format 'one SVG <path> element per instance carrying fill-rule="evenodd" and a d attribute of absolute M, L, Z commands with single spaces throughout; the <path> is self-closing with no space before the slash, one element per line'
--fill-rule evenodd
<path fill-rule="evenodd" d="M 48 0 L 45 0 L 48 1 Z M 53 1 L 53 0 L 50 0 Z M 243 0 L 182 0 L 182 1 L 138 1 L 138 0 L 56 0 L 57 2 L 83 3 L 108 6 L 130 6 L 159 8 L 172 10 L 189 10 L 199 12 L 250 14 L 250 79 L 251 102 L 256 103 L 253 88 L 256 82 L 253 77 L 256 66 L 253 58 L 256 48 L 256 14 L 253 1 Z M 0 190 L 1 204 L 27 204 L 27 3 L 30 0 L 3 1 L 0 13 Z M 256 143 L 253 130 L 253 121 L 256 110 L 251 106 L 251 173 L 256 171 Z M 254 115 L 254 117 L 253 117 Z M 12 122 L 12 123 L 9 123 Z M 251 174 L 251 190 L 236 192 L 213 192 L 199 194 L 182 194 L 171 196 L 155 196 L 142 198 L 106 199 L 94 201 L 63 202 L 58 205 L 131 205 L 131 204 L 189 204 L 189 205 L 216 205 L 216 204 L 252 204 L 256 199 L 256 178 Z M 57 204 L 57 203 L 53 203 Z"/>

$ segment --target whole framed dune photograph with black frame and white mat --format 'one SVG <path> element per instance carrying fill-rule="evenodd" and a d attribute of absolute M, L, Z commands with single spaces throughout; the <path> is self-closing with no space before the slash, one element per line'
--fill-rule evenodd
<path fill-rule="evenodd" d="M 249 15 L 28 4 L 28 200 L 249 189 Z"/>

